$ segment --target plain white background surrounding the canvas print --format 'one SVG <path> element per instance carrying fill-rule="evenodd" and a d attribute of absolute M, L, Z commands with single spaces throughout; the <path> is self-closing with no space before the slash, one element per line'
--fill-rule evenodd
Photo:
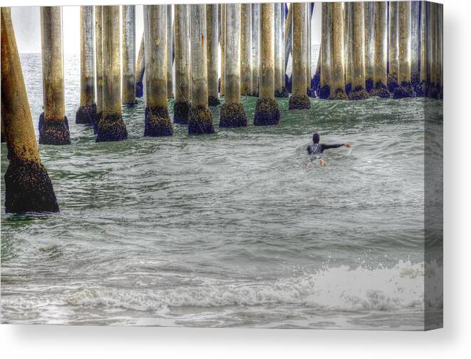
<path fill-rule="evenodd" d="M 113 4 L 113 1 L 99 1 Z M 142 4 L 143 0 L 128 0 Z M 148 1 L 154 2 L 155 1 Z M 182 1 L 183 2 L 183 1 Z M 210 2 L 209 0 L 192 2 Z M 224 2 L 224 1 L 218 1 Z M 471 358 L 471 6 L 445 4 L 445 328 L 430 332 L 0 326 L 1 358 Z M 97 1 L 0 0 L 6 5 Z M 470 141 L 470 142 L 468 142 Z"/>

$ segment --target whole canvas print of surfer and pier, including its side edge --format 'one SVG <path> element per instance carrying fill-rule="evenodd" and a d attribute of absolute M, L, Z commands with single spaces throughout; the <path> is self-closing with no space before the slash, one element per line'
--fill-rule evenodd
<path fill-rule="evenodd" d="M 1 8 L 1 323 L 442 327 L 443 8 Z"/>

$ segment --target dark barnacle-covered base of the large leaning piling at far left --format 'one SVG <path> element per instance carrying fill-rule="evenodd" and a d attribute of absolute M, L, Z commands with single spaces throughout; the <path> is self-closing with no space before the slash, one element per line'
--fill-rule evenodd
<path fill-rule="evenodd" d="M 41 163 L 10 160 L 5 173 L 5 212 L 59 212 L 51 179 Z"/>

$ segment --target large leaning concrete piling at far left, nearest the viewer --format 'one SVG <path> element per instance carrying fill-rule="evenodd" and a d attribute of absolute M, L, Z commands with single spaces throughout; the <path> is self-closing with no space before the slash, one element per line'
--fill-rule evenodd
<path fill-rule="evenodd" d="M 39 157 L 10 8 L 2 7 L 0 16 L 1 120 L 9 159 L 5 212 L 58 212 L 51 179 Z"/>

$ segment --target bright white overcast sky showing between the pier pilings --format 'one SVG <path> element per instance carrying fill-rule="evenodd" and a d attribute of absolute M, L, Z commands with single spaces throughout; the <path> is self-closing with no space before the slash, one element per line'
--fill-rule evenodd
<path fill-rule="evenodd" d="M 314 6 L 312 21 L 312 43 L 320 42 L 321 3 Z M 63 6 L 63 46 L 64 53 L 80 53 L 80 6 Z M 38 6 L 11 8 L 16 42 L 20 53 L 41 52 L 41 20 Z M 136 51 L 139 50 L 143 33 L 143 6 L 136 6 Z"/>

